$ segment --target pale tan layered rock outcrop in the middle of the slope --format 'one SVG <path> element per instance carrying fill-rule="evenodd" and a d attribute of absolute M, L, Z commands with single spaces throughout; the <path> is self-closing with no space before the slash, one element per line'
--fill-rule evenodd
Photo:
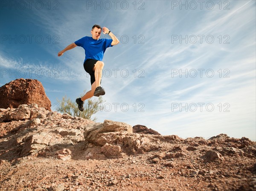
<path fill-rule="evenodd" d="M 93 144 L 94 148 L 87 149 L 87 158 L 122 157 L 124 154 L 141 154 L 147 150 L 149 139 L 144 135 L 134 134 L 132 126 L 127 123 L 105 120 L 103 123 L 91 124 L 84 128 L 84 139 Z M 148 148 L 150 149 L 150 148 Z"/>

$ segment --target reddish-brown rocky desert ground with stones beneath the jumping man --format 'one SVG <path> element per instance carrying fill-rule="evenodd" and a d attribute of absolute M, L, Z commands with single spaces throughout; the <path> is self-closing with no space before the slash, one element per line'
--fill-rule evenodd
<path fill-rule="evenodd" d="M 0 191 L 256 191 L 256 143 L 133 133 L 20 105 L 0 109 Z"/>

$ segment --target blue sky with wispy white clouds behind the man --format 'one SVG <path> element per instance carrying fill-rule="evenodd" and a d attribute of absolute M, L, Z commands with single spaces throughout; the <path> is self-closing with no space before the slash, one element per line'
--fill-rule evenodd
<path fill-rule="evenodd" d="M 99 24 L 119 38 L 103 61 L 95 116 L 163 135 L 256 140 L 256 1 L 1 1 L 0 86 L 41 81 L 55 110 L 90 89 L 84 49 Z M 102 34 L 102 38 L 109 38 Z"/>

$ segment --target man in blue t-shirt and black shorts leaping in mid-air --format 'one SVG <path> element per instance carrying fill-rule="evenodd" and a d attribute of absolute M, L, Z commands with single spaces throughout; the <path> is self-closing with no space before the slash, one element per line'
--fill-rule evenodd
<path fill-rule="evenodd" d="M 102 31 L 103 34 L 108 34 L 111 39 L 99 39 Z M 58 53 L 58 56 L 61 56 L 65 51 L 75 48 L 76 46 L 81 46 L 84 48 L 84 70 L 90 74 L 91 90 L 88 91 L 83 97 L 76 99 L 76 103 L 78 104 L 80 111 L 84 111 L 83 105 L 85 100 L 93 96 L 99 97 L 100 95 L 105 95 L 104 88 L 100 86 L 102 69 L 104 67 L 104 63 L 102 62 L 103 55 L 108 47 L 117 45 L 119 43 L 116 36 L 106 27 L 101 28 L 99 25 L 94 25 L 91 30 L 91 34 L 92 37 L 82 37 Z"/>

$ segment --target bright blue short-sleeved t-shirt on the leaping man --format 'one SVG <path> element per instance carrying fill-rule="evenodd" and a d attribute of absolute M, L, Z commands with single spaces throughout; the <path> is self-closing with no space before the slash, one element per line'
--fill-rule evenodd
<path fill-rule="evenodd" d="M 75 44 L 84 48 L 84 61 L 88 58 L 102 61 L 103 54 L 108 47 L 111 47 L 112 41 L 112 39 L 106 38 L 94 40 L 92 37 L 82 37 Z"/>

